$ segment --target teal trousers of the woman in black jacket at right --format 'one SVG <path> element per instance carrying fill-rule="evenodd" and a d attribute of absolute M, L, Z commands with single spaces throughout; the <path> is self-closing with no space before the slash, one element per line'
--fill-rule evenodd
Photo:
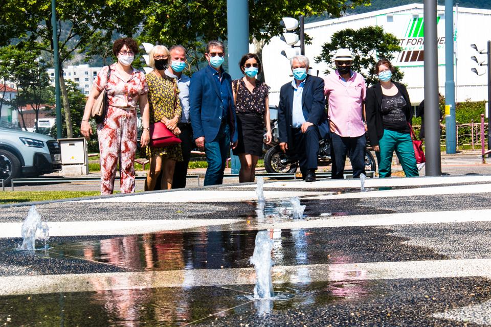
<path fill-rule="evenodd" d="M 378 161 L 378 177 L 390 177 L 394 150 L 400 165 L 403 166 L 404 174 L 407 177 L 419 176 L 411 134 L 384 129 L 384 135 L 378 140 L 378 146 L 380 152 L 375 152 Z"/>

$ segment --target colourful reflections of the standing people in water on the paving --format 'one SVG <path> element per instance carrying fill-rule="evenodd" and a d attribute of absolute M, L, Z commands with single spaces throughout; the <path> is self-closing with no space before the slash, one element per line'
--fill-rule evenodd
<path fill-rule="evenodd" d="M 268 210 L 271 210 L 271 207 L 264 209 L 265 220 L 268 219 L 266 215 Z M 251 285 L 234 286 L 231 287 L 231 290 L 220 287 L 191 287 L 196 282 L 193 279 L 192 270 L 251 267 L 248 261 L 253 255 L 257 232 L 257 230 L 207 231 L 203 227 L 203 230 L 199 232 L 170 231 L 83 242 L 60 242 L 53 244 L 53 251 L 50 255 L 55 255 L 53 252 L 59 252 L 78 256 L 125 267 L 123 271 L 184 270 L 181 288 L 152 288 L 152 280 L 149 277 L 142 281 L 142 289 L 131 289 L 129 286 L 134 285 L 135 281 L 126 279 L 127 277 L 122 274 L 118 277 L 108 277 L 110 279 L 108 284 L 116 285 L 118 290 L 83 293 L 83 296 L 87 297 L 83 299 L 87 301 L 87 304 L 100 306 L 105 317 L 101 319 L 106 319 L 108 325 L 181 325 L 243 303 L 243 300 L 237 300 L 236 296 L 244 294 L 243 292 L 251 292 Z M 281 273 L 281 269 L 272 275 L 273 282 L 276 283 L 274 284 L 275 292 L 281 292 L 283 289 L 287 293 L 295 293 L 295 300 L 278 301 L 278 303 L 283 302 L 280 304 L 276 301 L 275 303 L 255 301 L 254 304 L 251 303 L 247 307 L 249 309 L 238 307 L 222 314 L 237 314 L 241 310 L 251 309 L 256 310 L 258 314 L 267 314 L 272 310 L 290 308 L 287 303 L 291 301 L 297 305 L 306 306 L 333 301 L 333 298 L 357 298 L 366 294 L 365 282 L 324 283 L 323 287 L 315 291 L 305 294 L 299 291 L 304 287 L 319 285 L 312 283 L 310 270 L 301 267 L 302 265 L 353 262 L 346 252 L 336 253 L 336 256 L 331 257 L 329 257 L 329 250 L 316 252 L 319 250 L 319 242 L 325 241 L 325 244 L 330 242 L 322 239 L 316 233 L 317 230 L 307 229 L 271 229 L 268 231 L 269 238 L 273 242 L 272 259 L 275 261 L 275 266 L 300 266 L 293 275 Z M 321 258 L 322 256 L 324 259 Z M 329 272 L 329 275 L 336 280 L 343 280 L 345 276 L 351 278 L 344 280 L 352 281 L 352 274 L 358 274 L 354 277 L 361 279 L 364 277 L 364 272 L 361 271 Z M 90 283 L 95 289 L 103 289 L 102 285 L 96 284 L 98 283 L 96 279 Z M 289 289 L 284 288 L 286 285 Z M 233 289 L 241 289 L 243 292 L 237 293 Z M 22 307 L 22 305 L 19 306 Z M 85 303 L 79 302 L 70 310 L 85 312 L 86 306 L 84 306 Z M 10 312 L 10 310 L 7 311 Z M 0 310 L 0 314 L 4 312 Z M 53 312 L 59 313 L 60 310 Z"/>

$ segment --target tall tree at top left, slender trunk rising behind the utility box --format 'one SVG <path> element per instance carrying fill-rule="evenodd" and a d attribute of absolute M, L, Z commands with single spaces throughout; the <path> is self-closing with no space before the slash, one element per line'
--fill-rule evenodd
<path fill-rule="evenodd" d="M 80 49 L 85 49 L 94 33 L 102 31 L 112 35 L 118 31 L 125 35 L 136 32 L 141 20 L 138 0 L 57 0 L 60 88 L 65 112 L 66 131 L 73 137 L 68 91 L 63 79 L 63 63 Z M 13 38 L 31 49 L 51 56 L 53 29 L 50 0 L 4 0 L 0 6 L 0 46 L 10 44 Z M 61 28 L 63 25 L 63 28 Z M 110 41 L 109 38 L 105 40 Z"/>

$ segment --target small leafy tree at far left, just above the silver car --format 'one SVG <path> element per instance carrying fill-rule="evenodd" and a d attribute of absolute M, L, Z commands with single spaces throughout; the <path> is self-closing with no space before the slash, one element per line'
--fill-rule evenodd
<path fill-rule="evenodd" d="M 37 121 L 42 104 L 50 104 L 51 93 L 46 62 L 41 58 L 39 50 L 27 49 L 18 45 L 0 48 L 0 71 L 17 86 L 17 97 L 10 104 L 17 108 L 21 121 L 26 129 L 21 107 L 31 105 L 36 119 L 36 132 L 39 131 Z"/>

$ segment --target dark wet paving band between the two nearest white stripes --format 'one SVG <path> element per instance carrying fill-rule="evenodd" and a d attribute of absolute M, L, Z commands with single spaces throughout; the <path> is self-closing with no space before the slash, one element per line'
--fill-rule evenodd
<path fill-rule="evenodd" d="M 272 230 L 272 260 L 275 266 L 295 266 L 447 259 L 427 247 L 404 244 L 409 239 L 392 235 L 393 231 L 380 227 Z M 51 249 L 30 256 L 5 250 L 17 240 L 4 243 L 2 261 L 35 274 L 83 273 L 84 266 L 100 266 L 97 269 L 104 271 L 244 268 L 252 266 L 249 259 L 256 234 L 257 230 L 171 231 L 106 239 L 52 238 Z M 38 268 L 43 267 L 41 262 L 47 267 Z"/>

